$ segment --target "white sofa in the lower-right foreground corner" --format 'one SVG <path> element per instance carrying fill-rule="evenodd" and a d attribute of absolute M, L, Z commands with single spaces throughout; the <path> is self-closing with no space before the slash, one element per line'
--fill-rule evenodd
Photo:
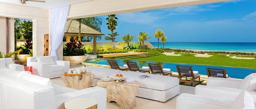
<path fill-rule="evenodd" d="M 244 90 L 235 88 L 201 86 L 195 94 L 182 93 L 176 99 L 176 109 L 243 109 Z M 254 101 L 256 92 L 250 92 Z"/>

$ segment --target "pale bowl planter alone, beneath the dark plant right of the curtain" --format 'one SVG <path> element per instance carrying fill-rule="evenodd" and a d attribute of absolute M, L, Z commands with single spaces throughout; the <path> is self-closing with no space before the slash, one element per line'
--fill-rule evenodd
<path fill-rule="evenodd" d="M 82 56 L 63 56 L 64 61 L 69 61 L 70 66 L 79 65 L 80 63 L 84 62 L 88 55 L 82 55 Z"/>

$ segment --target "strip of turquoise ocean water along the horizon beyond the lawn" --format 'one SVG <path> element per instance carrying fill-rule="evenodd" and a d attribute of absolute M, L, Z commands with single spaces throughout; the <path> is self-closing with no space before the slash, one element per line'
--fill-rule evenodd
<path fill-rule="evenodd" d="M 151 42 L 157 48 L 157 42 Z M 162 43 L 159 43 L 162 47 Z M 166 42 L 165 48 L 188 50 L 218 50 L 229 52 L 256 52 L 256 42 Z"/>

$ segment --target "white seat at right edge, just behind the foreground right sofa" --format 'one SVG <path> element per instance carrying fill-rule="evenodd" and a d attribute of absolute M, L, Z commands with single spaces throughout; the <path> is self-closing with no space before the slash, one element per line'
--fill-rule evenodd
<path fill-rule="evenodd" d="M 249 74 L 245 79 L 208 78 L 207 86 L 228 87 L 256 91 L 256 73 Z"/>

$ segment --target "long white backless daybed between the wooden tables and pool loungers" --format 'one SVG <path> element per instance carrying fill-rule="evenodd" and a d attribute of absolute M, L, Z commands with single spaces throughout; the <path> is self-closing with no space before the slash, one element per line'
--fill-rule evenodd
<path fill-rule="evenodd" d="M 102 67 L 86 67 L 86 72 L 94 74 L 94 83 L 102 78 L 115 78 L 115 74 L 122 73 L 125 78 L 134 79 L 140 82 L 138 97 L 165 102 L 180 94 L 178 78 L 156 74 L 146 74 L 139 72 L 124 72 L 117 69 Z M 151 78 L 139 79 L 139 75 L 148 75 Z"/>

